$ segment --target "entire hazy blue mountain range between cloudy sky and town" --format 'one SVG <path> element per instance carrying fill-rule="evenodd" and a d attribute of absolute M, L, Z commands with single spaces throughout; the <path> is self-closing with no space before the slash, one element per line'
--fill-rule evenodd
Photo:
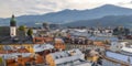
<path fill-rule="evenodd" d="M 9 25 L 8 19 L 0 19 L 1 25 Z M 63 10 L 42 15 L 21 15 L 16 18 L 19 25 L 36 25 L 35 23 L 51 22 L 65 25 L 86 25 L 91 26 L 100 22 L 101 25 L 124 25 L 132 24 L 132 9 L 121 8 L 112 4 L 105 4 L 91 10 Z"/>

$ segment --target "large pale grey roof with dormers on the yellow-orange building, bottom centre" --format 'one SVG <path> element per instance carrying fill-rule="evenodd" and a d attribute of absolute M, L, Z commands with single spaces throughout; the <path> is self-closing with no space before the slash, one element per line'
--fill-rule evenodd
<path fill-rule="evenodd" d="M 73 55 L 70 54 L 73 53 Z M 79 50 L 70 50 L 65 52 L 56 52 L 51 54 L 55 61 L 55 64 L 63 64 L 75 59 L 80 59 L 84 54 Z"/>

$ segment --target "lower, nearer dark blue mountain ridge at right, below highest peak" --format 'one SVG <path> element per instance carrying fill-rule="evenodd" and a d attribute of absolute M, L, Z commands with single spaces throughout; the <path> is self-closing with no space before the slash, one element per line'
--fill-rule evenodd
<path fill-rule="evenodd" d="M 64 26 L 125 26 L 132 29 L 132 15 L 107 15 L 94 20 L 80 20 L 63 24 Z"/>

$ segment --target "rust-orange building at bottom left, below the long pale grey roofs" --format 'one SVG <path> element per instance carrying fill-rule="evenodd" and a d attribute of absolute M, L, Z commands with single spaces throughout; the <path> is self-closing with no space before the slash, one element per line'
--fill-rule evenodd
<path fill-rule="evenodd" d="M 34 57 L 29 56 L 29 57 L 22 57 L 21 55 L 18 56 L 18 58 L 9 58 L 6 59 L 7 62 L 7 66 L 25 66 L 26 63 L 29 64 L 43 64 L 44 63 L 44 58 L 43 56 L 36 54 Z"/>

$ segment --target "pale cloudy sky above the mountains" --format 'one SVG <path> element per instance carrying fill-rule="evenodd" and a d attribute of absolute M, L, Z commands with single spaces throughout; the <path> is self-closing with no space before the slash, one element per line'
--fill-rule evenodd
<path fill-rule="evenodd" d="M 65 9 L 94 9 L 103 4 L 132 9 L 132 0 L 0 0 L 0 18 L 44 14 Z"/>

